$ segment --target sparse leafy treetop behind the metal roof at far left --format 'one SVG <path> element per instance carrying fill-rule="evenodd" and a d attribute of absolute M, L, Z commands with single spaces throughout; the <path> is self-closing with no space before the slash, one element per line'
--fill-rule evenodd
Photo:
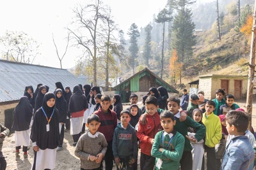
<path fill-rule="evenodd" d="M 32 64 L 39 54 L 38 43 L 25 32 L 6 31 L 4 36 L 0 37 L 0 44 L 4 48 L 2 58 L 6 60 Z"/>

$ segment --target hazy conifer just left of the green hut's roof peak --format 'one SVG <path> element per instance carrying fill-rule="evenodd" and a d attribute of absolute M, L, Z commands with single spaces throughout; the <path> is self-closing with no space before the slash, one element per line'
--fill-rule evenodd
<path fill-rule="evenodd" d="M 131 27 L 129 28 L 129 31 L 127 33 L 130 36 L 130 46 L 129 46 L 129 52 L 130 52 L 130 59 L 129 64 L 132 67 L 133 74 L 135 74 L 135 66 L 136 66 L 136 59 L 138 58 L 138 37 L 140 36 L 140 32 L 138 31 L 138 26 L 133 23 Z"/>

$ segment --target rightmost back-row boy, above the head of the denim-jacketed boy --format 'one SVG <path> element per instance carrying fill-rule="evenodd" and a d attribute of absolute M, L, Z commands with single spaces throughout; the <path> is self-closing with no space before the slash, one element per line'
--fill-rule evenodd
<path fill-rule="evenodd" d="M 234 103 L 235 97 L 232 94 L 228 94 L 225 98 L 226 103 L 220 106 L 218 115 L 226 115 L 228 111 L 240 108 L 236 103 Z"/>

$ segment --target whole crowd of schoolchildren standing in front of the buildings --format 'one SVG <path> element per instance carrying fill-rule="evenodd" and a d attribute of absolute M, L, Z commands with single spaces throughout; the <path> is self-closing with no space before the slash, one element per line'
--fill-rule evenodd
<path fill-rule="evenodd" d="M 55 94 L 44 94 L 42 106 L 34 111 L 34 115 L 32 106 L 26 106 L 29 103 L 32 105 L 28 97 L 20 99 L 20 103 L 26 104 L 19 103 L 15 108 L 16 111 L 21 110 L 19 107 L 26 108 L 26 113 L 22 114 L 28 117 L 24 120 L 26 124 L 22 129 L 13 124 L 13 127 L 18 128 L 15 130 L 17 138 L 28 136 L 29 117 L 31 119 L 33 115 L 30 139 L 33 142 L 35 158 L 32 169 L 54 169 L 56 151 L 62 148 L 63 143 L 63 117 L 69 114 L 70 131 L 76 146 L 75 155 L 80 159 L 81 170 L 102 169 L 102 160 L 106 170 L 113 169 L 114 160 L 118 170 L 138 169 L 138 148 L 141 152 L 141 170 L 204 169 L 205 152 L 207 169 L 253 167 L 254 153 L 247 137 L 250 136 L 250 131 L 246 131 L 248 114 L 237 110 L 239 106 L 234 104 L 234 96 L 227 95 L 226 100 L 223 99 L 225 92 L 221 89 L 217 90 L 216 99 L 212 101 L 205 100 L 204 92 L 200 91 L 198 95 L 190 96 L 190 102 L 187 90 L 184 89 L 180 103 L 178 97 L 166 99 L 162 87 L 152 87 L 147 96 L 142 97 L 142 108 L 137 105 L 138 96 L 131 94 L 131 106 L 123 110 L 120 96 L 113 97 L 114 108 L 111 109 L 109 96 L 102 96 L 100 92 L 93 90 L 86 97 L 78 85 L 74 87 L 74 94 L 70 95 L 69 102 L 66 100 L 66 105 L 61 105 L 62 90 L 57 85 L 56 88 Z M 38 89 L 39 94 L 40 89 L 44 88 Z M 161 93 L 165 98 L 161 97 Z M 67 94 L 63 95 L 64 99 L 66 96 Z M 90 104 L 93 102 L 95 106 L 92 108 Z M 85 122 L 84 114 L 88 108 L 90 112 L 93 111 L 86 115 Z M 81 135 L 81 130 L 85 129 L 82 129 L 83 122 L 88 131 Z M 252 142 L 254 145 L 255 140 Z M 19 155 L 22 145 L 25 155 L 27 143 L 16 145 L 16 155 Z"/>

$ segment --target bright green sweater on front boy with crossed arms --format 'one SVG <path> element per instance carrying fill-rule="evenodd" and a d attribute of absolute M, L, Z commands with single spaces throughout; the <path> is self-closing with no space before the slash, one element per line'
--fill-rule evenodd
<path fill-rule="evenodd" d="M 166 145 L 168 145 L 170 141 L 170 136 L 166 134 L 164 136 L 164 148 L 162 144 L 162 136 L 164 131 L 157 132 L 155 136 L 155 142 L 152 146 L 151 155 L 152 157 L 156 157 L 155 164 L 158 159 L 163 160 L 163 164 L 161 166 L 161 170 L 167 169 L 179 169 L 180 167 L 180 159 L 184 150 L 184 137 L 179 132 L 173 132 L 174 136 L 170 146 L 168 146 L 168 150 L 165 150 Z M 175 134 L 176 133 L 176 134 Z M 159 152 L 159 148 L 163 148 L 163 152 Z M 157 170 L 157 167 L 155 167 Z"/>

